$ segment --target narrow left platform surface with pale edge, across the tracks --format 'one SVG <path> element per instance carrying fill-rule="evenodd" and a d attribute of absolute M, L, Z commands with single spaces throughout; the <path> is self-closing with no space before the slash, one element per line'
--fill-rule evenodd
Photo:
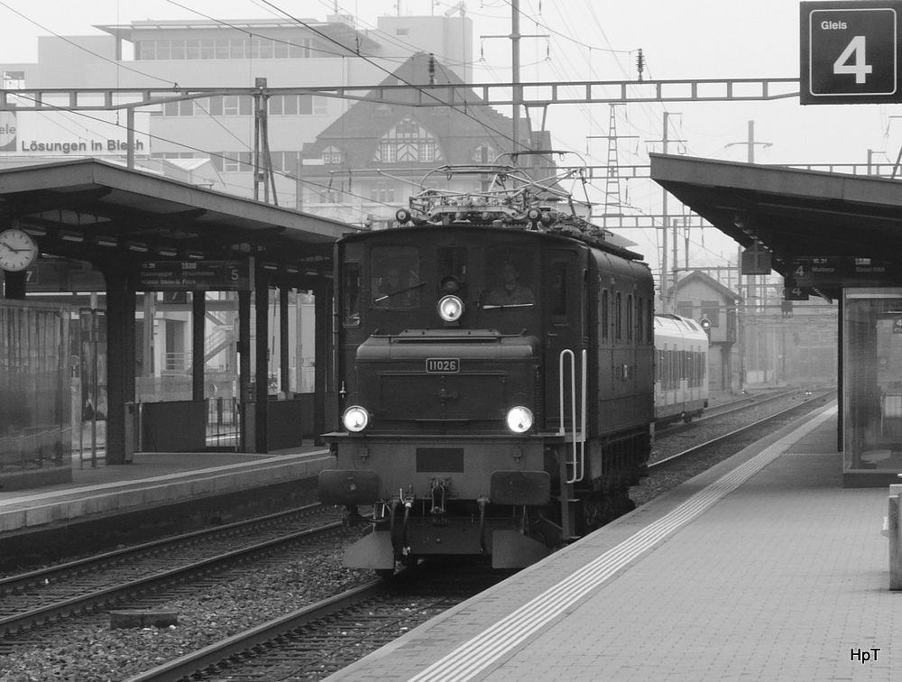
<path fill-rule="evenodd" d="M 99 457 L 92 466 L 84 457 L 73 457 L 70 483 L 0 490 L 0 533 L 307 478 L 333 461 L 326 448 L 313 446 L 268 455 L 136 453 L 125 465 Z"/>

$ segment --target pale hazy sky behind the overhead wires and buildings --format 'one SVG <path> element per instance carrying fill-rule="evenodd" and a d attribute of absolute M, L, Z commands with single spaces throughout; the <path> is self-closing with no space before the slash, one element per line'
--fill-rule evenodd
<path fill-rule="evenodd" d="M 0 62 L 36 61 L 37 36 L 96 34 L 92 24 L 204 16 L 323 20 L 337 10 L 366 28 L 381 14 L 440 15 L 460 5 L 474 22 L 474 81 L 510 82 L 511 0 L 0 0 Z M 634 79 L 640 49 L 645 80 L 799 75 L 799 3 L 792 0 L 520 0 L 520 33 L 524 82 Z M 750 121 L 761 143 L 755 146 L 760 163 L 864 163 L 869 150 L 874 161 L 892 162 L 902 144 L 899 106 L 801 106 L 790 97 L 633 104 L 616 111 L 621 164 L 647 164 L 649 151 L 661 151 L 665 112 L 667 136 L 678 141 L 669 151 L 691 156 L 746 161 Z M 599 136 L 608 134 L 609 113 L 607 105 L 550 107 L 555 146 L 603 164 L 607 140 Z M 623 203 L 636 212 L 659 213 L 661 194 L 649 182 L 621 185 Z M 674 204 L 669 208 L 678 212 Z M 648 244 L 639 250 L 654 262 L 656 233 L 626 236 Z M 718 235 L 693 235 L 692 260 L 734 256 L 735 245 Z"/>

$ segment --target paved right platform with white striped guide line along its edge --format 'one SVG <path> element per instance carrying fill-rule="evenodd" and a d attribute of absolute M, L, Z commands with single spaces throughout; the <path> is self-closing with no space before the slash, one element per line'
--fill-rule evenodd
<path fill-rule="evenodd" d="M 836 427 L 833 402 L 327 680 L 898 679 L 888 490 L 842 487 Z"/>

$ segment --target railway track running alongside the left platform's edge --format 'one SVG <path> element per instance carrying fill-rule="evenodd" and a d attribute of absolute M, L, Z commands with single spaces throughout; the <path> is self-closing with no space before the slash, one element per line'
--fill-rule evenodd
<path fill-rule="evenodd" d="M 18 633 L 134 604 L 174 585 L 191 589 L 203 576 L 341 530 L 335 512 L 323 512 L 311 505 L 2 578 L 0 650 Z"/>

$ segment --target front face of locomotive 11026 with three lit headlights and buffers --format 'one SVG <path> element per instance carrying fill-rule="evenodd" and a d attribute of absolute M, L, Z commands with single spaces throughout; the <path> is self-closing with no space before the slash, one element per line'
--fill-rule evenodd
<path fill-rule="evenodd" d="M 584 251 L 485 226 L 338 243 L 343 429 L 326 435 L 336 467 L 320 475 L 319 493 L 352 513 L 375 505 L 373 532 L 346 565 L 491 554 L 495 567 L 520 567 L 545 556 L 535 511 L 557 472 L 546 447 L 562 439 L 547 428 L 557 379 L 549 384 L 543 368 L 557 378 L 558 344 L 547 343 L 546 322 L 568 304 Z"/>

